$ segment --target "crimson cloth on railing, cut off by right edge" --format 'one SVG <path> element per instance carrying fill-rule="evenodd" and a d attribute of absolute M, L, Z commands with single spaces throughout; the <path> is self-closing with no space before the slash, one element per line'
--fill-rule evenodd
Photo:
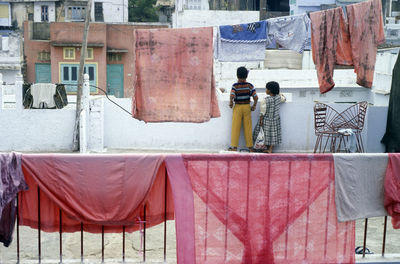
<path fill-rule="evenodd" d="M 400 229 L 400 154 L 389 153 L 385 177 L 384 205 L 394 229 Z"/>

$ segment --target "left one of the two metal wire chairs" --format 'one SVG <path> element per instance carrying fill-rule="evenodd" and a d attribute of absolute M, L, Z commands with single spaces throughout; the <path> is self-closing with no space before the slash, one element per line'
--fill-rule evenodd
<path fill-rule="evenodd" d="M 314 128 L 317 140 L 314 153 L 336 151 L 336 140 L 340 137 L 337 127 L 332 124 L 341 121 L 339 113 L 327 104 L 317 102 L 314 105 Z"/>

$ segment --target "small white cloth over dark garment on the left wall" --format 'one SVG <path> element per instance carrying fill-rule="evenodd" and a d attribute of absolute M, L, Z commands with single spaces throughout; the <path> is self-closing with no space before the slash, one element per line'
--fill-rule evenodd
<path fill-rule="evenodd" d="M 33 97 L 33 108 L 54 108 L 54 95 L 56 94 L 56 85 L 52 83 L 35 83 L 31 86 Z"/>

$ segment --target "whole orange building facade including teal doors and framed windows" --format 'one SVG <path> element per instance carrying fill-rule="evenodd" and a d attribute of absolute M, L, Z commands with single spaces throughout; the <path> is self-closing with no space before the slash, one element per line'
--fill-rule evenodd
<path fill-rule="evenodd" d="M 24 23 L 25 81 L 64 83 L 76 93 L 84 23 L 49 24 L 49 38 L 35 39 L 34 22 Z M 84 72 L 91 93 L 131 97 L 135 76 L 134 29 L 168 27 L 166 24 L 91 23 Z"/>

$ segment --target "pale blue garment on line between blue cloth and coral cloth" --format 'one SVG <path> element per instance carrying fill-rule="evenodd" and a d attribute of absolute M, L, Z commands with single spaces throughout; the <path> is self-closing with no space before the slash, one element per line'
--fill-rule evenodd
<path fill-rule="evenodd" d="M 310 19 L 306 14 L 270 18 L 268 43 L 276 42 L 285 49 L 303 53 L 311 31 Z"/>

